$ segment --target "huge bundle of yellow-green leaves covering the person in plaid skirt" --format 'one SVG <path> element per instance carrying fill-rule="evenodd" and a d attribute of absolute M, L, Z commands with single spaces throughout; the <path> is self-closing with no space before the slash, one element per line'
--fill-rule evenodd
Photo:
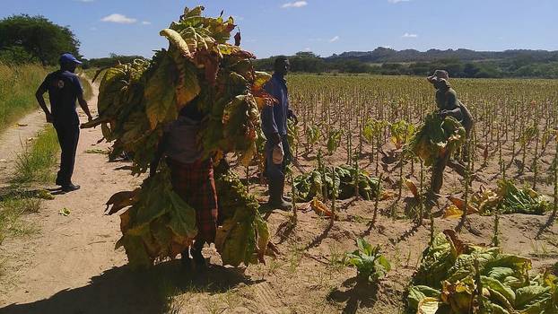
<path fill-rule="evenodd" d="M 99 118 L 84 127 L 100 125 L 104 138 L 112 143 L 111 157 L 126 153 L 134 174 L 149 168 L 164 127 L 185 106 L 196 106 L 205 115 L 198 138 L 205 158 L 217 162 L 226 153 L 236 153 L 241 163 L 248 164 L 257 152 L 259 111 L 273 102 L 263 91 L 270 76 L 254 71 L 251 53 L 227 43 L 236 27 L 231 17 L 204 17 L 203 11 L 202 6 L 187 8 L 179 22 L 161 31 L 169 39 L 168 50 L 157 51 L 152 60 L 109 68 L 102 78 Z M 118 241 L 132 266 L 174 258 L 196 236 L 195 211 L 172 190 L 169 176 L 162 164 L 141 188 L 121 192 L 108 202 L 109 214 L 132 205 L 121 214 L 123 237 Z M 222 179 L 235 180 L 231 173 Z M 230 197 L 226 193 L 230 191 L 219 196 Z M 245 203 L 228 209 L 236 210 L 226 214 L 230 221 L 222 222 L 230 227 L 218 246 L 225 264 L 257 261 L 252 256 L 262 255 L 258 245 L 266 245 L 268 239 L 253 199 L 243 196 L 241 201 Z M 232 228 L 233 222 L 242 227 Z"/>

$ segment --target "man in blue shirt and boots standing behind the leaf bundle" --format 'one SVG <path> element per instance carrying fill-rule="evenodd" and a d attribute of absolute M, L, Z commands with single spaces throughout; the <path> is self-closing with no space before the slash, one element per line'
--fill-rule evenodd
<path fill-rule="evenodd" d="M 285 168 L 291 161 L 291 149 L 287 141 L 287 119 L 297 118 L 289 108 L 289 94 L 284 76 L 289 71 L 289 60 L 286 57 L 275 59 L 274 74 L 264 87 L 266 92 L 276 100 L 273 106 L 266 106 L 262 110 L 262 130 L 266 135 L 266 172 L 268 180 L 269 201 L 267 205 L 272 209 L 288 210 L 291 204 L 283 196 Z"/>

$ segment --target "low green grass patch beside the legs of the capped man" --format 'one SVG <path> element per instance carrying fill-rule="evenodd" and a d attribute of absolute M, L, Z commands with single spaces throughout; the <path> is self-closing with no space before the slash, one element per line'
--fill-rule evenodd
<path fill-rule="evenodd" d="M 18 155 L 13 183 L 44 183 L 52 180 L 52 167 L 57 163 L 59 149 L 57 132 L 54 127 L 47 126 L 31 145 L 24 145 L 23 153 Z"/>

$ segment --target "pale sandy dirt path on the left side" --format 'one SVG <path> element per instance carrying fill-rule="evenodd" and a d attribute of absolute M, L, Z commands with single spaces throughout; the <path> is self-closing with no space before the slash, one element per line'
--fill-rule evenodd
<path fill-rule="evenodd" d="M 94 91 L 92 109 L 97 107 L 97 86 Z M 83 114 L 80 116 L 83 120 Z M 0 146 L 0 159 L 6 160 L 3 177 L 13 169 L 16 150 L 11 147 L 20 147 L 20 138 L 35 135 L 44 126 L 42 118 L 39 113 L 31 114 L 20 122 L 29 126 L 8 130 L 3 135 Z M 74 171 L 74 183 L 82 188 L 45 202 L 39 214 L 25 218 L 37 225 L 39 234 L 5 240 L 0 247 L 0 258 L 4 261 L 0 312 L 109 312 L 102 310 L 101 303 L 115 312 L 135 309 L 126 306 L 122 311 L 118 306 L 118 302 L 134 301 L 124 296 L 136 289 L 133 281 L 120 278 L 127 272 L 111 270 L 125 265 L 126 256 L 123 250 L 114 250 L 118 216 L 104 216 L 102 208 L 110 195 L 134 186 L 139 179 L 129 176 L 126 170 L 118 170 L 125 164 L 109 163 L 104 154 L 85 153 L 88 149 L 108 147 L 96 144 L 99 139 L 99 128 L 82 130 Z M 67 217 L 58 214 L 64 207 L 71 211 Z M 4 308 L 14 303 L 18 305 Z"/>

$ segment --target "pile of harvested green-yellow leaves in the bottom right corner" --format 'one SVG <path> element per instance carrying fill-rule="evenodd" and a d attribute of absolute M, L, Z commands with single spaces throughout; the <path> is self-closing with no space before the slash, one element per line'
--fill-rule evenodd
<path fill-rule="evenodd" d="M 407 312 L 558 313 L 558 278 L 529 275 L 531 261 L 500 248 L 464 243 L 444 231 L 424 250 L 408 291 Z"/>

